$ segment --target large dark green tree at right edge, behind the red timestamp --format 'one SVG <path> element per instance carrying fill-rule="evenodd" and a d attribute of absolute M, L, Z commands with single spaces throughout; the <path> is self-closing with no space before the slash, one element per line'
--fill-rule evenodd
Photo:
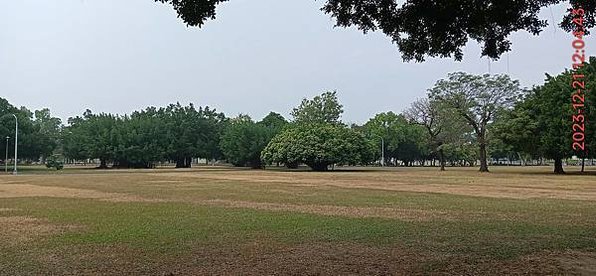
<path fill-rule="evenodd" d="M 572 95 L 577 91 L 572 84 L 573 75 L 582 74 L 585 82 L 585 112 L 578 120 L 585 123 L 587 155 L 572 149 L 572 116 L 578 115 L 572 107 Z M 538 154 L 555 161 L 554 172 L 565 173 L 563 160 L 574 154 L 591 157 L 596 144 L 594 129 L 596 116 L 596 57 L 590 58 L 577 71 L 567 70 L 556 76 L 547 75 L 544 85 L 535 87 L 518 103 L 505 119 L 497 123 L 497 135 L 518 151 Z M 575 101 L 577 102 L 577 101 Z M 583 118 L 583 119 L 582 119 Z"/>

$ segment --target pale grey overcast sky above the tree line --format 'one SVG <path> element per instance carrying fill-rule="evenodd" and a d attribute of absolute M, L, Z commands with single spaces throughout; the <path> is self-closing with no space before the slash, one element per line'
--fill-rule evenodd
<path fill-rule="evenodd" d="M 198 29 L 153 0 L 0 0 L 0 97 L 63 119 L 177 101 L 260 119 L 337 90 L 344 121 L 362 123 L 402 111 L 448 72 L 488 72 L 475 42 L 463 62 L 404 63 L 382 34 L 334 28 L 322 3 L 233 0 Z M 565 7 L 542 16 L 559 22 Z M 552 26 L 539 37 L 516 33 L 491 71 L 541 84 L 570 66 L 571 39 Z M 592 54 L 596 40 L 587 43 Z"/>

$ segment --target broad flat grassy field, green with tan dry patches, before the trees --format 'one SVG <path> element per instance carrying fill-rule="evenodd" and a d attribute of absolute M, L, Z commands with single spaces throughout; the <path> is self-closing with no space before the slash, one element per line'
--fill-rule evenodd
<path fill-rule="evenodd" d="M 492 170 L 26 170 L 0 275 L 596 273 L 596 176 Z"/>

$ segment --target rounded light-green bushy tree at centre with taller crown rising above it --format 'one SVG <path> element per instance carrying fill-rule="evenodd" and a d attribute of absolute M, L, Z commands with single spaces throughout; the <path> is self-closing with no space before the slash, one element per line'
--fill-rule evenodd
<path fill-rule="evenodd" d="M 315 171 L 326 171 L 334 164 L 372 161 L 370 141 L 347 128 L 341 122 L 342 113 L 343 106 L 335 91 L 303 99 L 291 112 L 293 122 L 271 140 L 261 158 L 266 163 L 283 163 L 291 168 L 306 164 Z M 279 121 L 279 116 L 270 114 L 261 123 L 272 121 Z"/>

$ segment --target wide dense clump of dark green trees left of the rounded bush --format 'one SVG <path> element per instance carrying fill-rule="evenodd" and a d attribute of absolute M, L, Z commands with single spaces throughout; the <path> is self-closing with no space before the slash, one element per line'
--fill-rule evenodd
<path fill-rule="evenodd" d="M 128 116 L 93 114 L 69 119 L 63 150 L 69 159 L 99 159 L 119 168 L 151 168 L 175 161 L 187 168 L 193 158 L 219 159 L 220 138 L 227 119 L 209 107 L 172 104 L 149 107 Z"/>

